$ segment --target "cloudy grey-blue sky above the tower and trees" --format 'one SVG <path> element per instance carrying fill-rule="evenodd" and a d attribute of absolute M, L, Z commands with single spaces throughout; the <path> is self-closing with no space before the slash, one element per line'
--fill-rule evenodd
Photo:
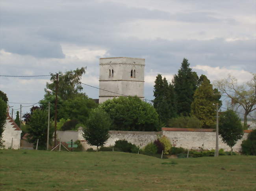
<path fill-rule="evenodd" d="M 255 8 L 255 0 L 1 0 L 0 75 L 87 66 L 82 82 L 98 86 L 99 58 L 139 57 L 152 99 L 156 75 L 171 80 L 186 57 L 211 81 L 230 73 L 243 83 L 256 72 Z M 47 81 L 0 77 L 0 90 L 10 102 L 35 103 Z M 83 91 L 98 98 L 97 89 Z"/>

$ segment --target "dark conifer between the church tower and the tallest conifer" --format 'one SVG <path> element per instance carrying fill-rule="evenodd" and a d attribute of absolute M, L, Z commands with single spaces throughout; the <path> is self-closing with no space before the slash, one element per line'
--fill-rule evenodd
<path fill-rule="evenodd" d="M 168 85 L 166 78 L 164 77 L 162 79 L 161 74 L 156 76 L 154 97 L 153 105 L 159 115 L 160 121 L 164 125 L 167 125 L 168 120 L 176 116 L 176 102 L 173 85 Z"/>

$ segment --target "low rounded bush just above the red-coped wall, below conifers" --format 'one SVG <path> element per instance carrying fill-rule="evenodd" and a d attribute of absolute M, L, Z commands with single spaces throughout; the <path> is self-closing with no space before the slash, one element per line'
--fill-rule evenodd
<path fill-rule="evenodd" d="M 168 122 L 168 127 L 174 127 L 174 128 L 202 128 L 202 122 L 192 116 L 192 117 L 178 117 L 178 118 L 172 118 Z"/>

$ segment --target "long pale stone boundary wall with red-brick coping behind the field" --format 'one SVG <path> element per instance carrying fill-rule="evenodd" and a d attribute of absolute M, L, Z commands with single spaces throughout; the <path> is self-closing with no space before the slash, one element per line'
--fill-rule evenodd
<path fill-rule="evenodd" d="M 241 143 L 247 139 L 250 130 L 245 130 L 243 138 L 233 147 L 234 151 L 241 151 Z M 67 142 L 73 139 L 81 140 L 84 149 L 96 148 L 89 146 L 82 136 L 82 127 L 78 131 L 57 131 L 57 137 L 61 141 Z M 144 131 L 109 131 L 110 138 L 105 146 L 113 146 L 116 140 L 125 139 L 139 147 L 145 147 L 148 143 L 156 140 L 158 137 L 165 135 L 175 147 L 185 149 L 215 149 L 215 129 L 187 129 L 187 128 L 162 128 L 159 132 Z M 219 136 L 219 149 L 230 151 L 230 147 L 221 141 Z"/>

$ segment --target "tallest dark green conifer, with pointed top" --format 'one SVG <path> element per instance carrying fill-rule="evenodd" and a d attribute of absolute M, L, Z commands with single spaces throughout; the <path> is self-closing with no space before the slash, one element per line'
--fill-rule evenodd
<path fill-rule="evenodd" d="M 186 58 L 183 59 L 178 75 L 173 77 L 173 86 L 176 94 L 177 113 L 180 116 L 189 116 L 191 112 L 191 103 L 193 95 L 197 89 L 198 76 L 189 67 Z"/>

